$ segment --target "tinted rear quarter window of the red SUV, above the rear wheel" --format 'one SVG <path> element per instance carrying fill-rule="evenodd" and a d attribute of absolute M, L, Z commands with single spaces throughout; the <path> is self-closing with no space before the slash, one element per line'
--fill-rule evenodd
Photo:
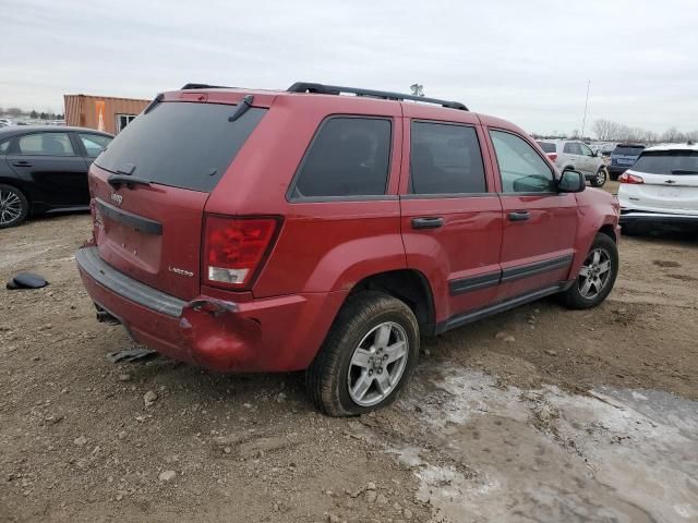
<path fill-rule="evenodd" d="M 389 120 L 329 118 L 305 153 L 291 198 L 385 194 L 389 163 Z"/>

